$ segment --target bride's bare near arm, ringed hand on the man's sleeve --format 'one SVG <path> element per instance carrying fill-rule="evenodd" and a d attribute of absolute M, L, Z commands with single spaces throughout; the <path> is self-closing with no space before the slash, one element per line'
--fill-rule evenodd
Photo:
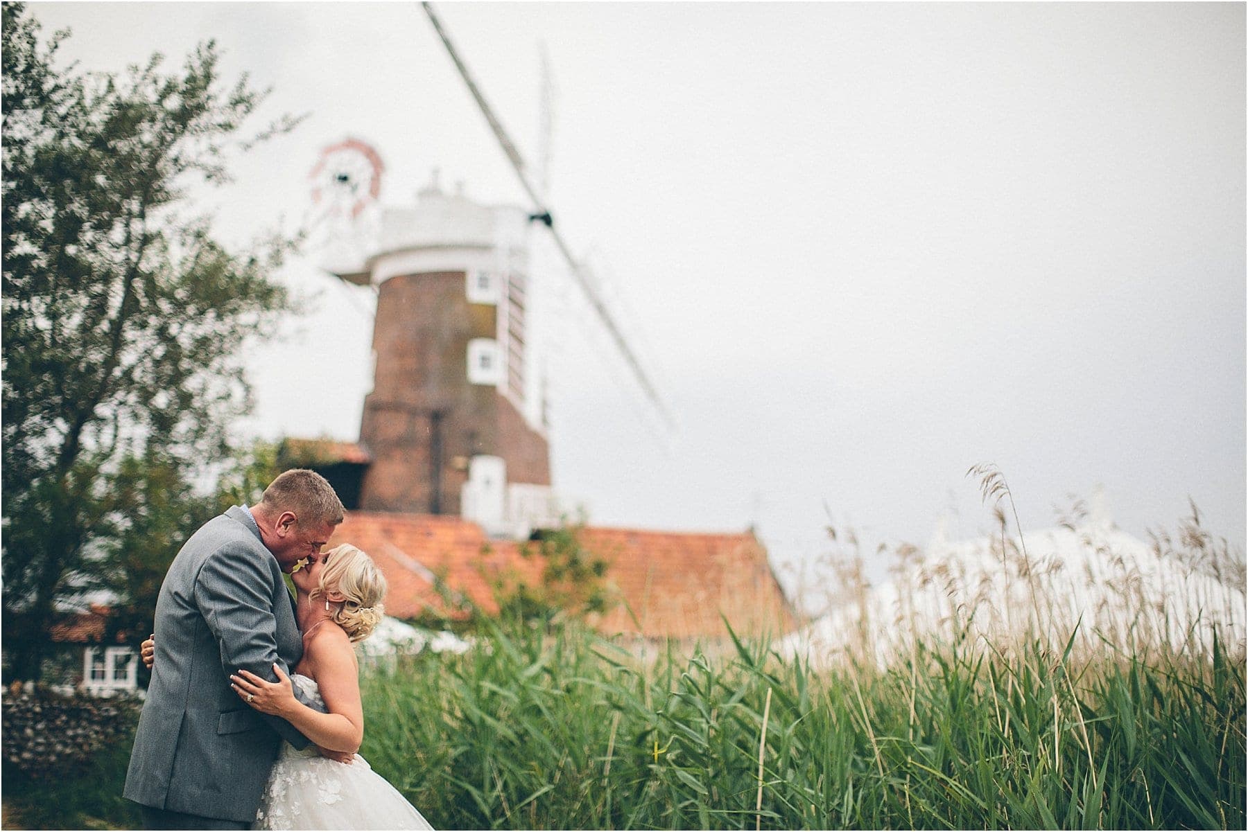
<path fill-rule="evenodd" d="M 359 671 L 351 640 L 342 630 L 327 627 L 310 641 L 306 659 L 328 713 L 295 699 L 291 680 L 281 669 L 277 669 L 277 684 L 245 670 L 230 679 L 243 700 L 248 694 L 253 695 L 248 705 L 257 711 L 282 717 L 322 748 L 354 753 L 364 738 L 364 710 L 359 701 Z"/>

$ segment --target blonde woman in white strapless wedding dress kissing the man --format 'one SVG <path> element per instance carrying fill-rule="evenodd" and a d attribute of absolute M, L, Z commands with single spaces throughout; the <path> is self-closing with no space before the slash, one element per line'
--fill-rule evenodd
<path fill-rule="evenodd" d="M 230 680 L 248 705 L 275 713 L 314 746 L 354 755 L 349 763 L 322 757 L 314 746 L 296 751 L 282 742 L 268 775 L 256 830 L 431 830 L 403 796 L 358 753 L 364 736 L 359 672 L 352 644 L 368 637 L 382 620 L 386 579 L 352 545 L 313 555 L 291 575 L 296 616 L 303 632 L 303 659 L 278 681 L 248 671 Z M 145 660 L 147 642 L 144 644 Z M 295 686 L 321 706 L 295 699 Z"/>

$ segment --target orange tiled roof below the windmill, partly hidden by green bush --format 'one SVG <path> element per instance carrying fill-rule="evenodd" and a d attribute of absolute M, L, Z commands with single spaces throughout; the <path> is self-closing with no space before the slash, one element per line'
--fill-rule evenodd
<path fill-rule="evenodd" d="M 723 636 L 720 614 L 738 632 L 775 634 L 794 626 L 766 550 L 753 533 L 590 526 L 579 540 L 608 563 L 608 588 L 623 601 L 590 619 L 604 632 Z M 331 546 L 339 543 L 354 544 L 377 561 L 389 583 L 386 611 L 397 617 L 444 610 L 436 576 L 490 612 L 498 609 L 492 583 L 540 581 L 540 559 L 522 554 L 527 541 L 489 539 L 477 524 L 454 516 L 349 511 L 329 540 Z"/>

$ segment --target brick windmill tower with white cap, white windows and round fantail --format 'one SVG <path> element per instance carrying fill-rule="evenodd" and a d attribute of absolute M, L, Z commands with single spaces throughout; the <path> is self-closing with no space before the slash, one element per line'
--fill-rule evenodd
<path fill-rule="evenodd" d="M 545 385 L 528 338 L 530 217 L 444 192 L 437 173 L 414 206 L 379 210 L 379 176 L 376 151 L 349 138 L 313 171 L 313 196 L 347 218 L 346 236 L 371 237 L 353 258 L 331 247 L 331 271 L 377 292 L 363 453 L 317 467 L 337 468 L 331 481 L 346 480 L 339 491 L 358 493 L 364 511 L 461 515 L 504 535 L 550 525 Z M 361 235 L 369 216 L 373 233 Z"/>

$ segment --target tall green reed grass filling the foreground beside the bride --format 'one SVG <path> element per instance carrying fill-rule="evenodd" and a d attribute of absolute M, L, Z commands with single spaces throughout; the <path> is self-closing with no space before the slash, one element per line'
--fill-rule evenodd
<path fill-rule="evenodd" d="M 814 670 L 490 625 L 366 674 L 363 753 L 443 828 L 1243 828 L 1242 656 L 982 644 Z"/>

